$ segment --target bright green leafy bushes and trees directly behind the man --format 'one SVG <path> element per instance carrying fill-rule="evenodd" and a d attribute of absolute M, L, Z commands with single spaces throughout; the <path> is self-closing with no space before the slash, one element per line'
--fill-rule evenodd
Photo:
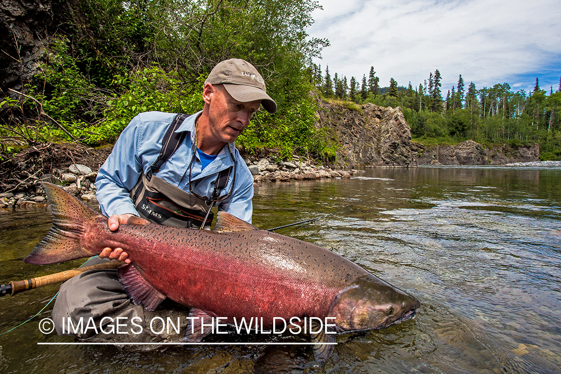
<path fill-rule="evenodd" d="M 328 45 L 310 38 L 315 0 L 70 0 L 59 35 L 49 36 L 46 63 L 19 100 L 6 98 L 0 136 L 21 144 L 116 140 L 136 114 L 194 113 L 203 107 L 204 77 L 223 59 L 257 67 L 278 104 L 260 112 L 238 144 L 288 157 L 293 151 L 327 159 L 333 142 L 316 123 L 308 69 Z M 157 61 L 157 64 L 153 62 Z M 318 79 L 319 76 L 319 79 Z M 346 79 L 344 84 L 346 85 Z"/>

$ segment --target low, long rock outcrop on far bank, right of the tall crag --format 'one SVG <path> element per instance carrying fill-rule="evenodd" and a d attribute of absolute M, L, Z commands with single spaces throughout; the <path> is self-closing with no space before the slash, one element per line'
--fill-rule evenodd
<path fill-rule="evenodd" d="M 457 145 L 418 145 L 419 165 L 503 165 L 538 161 L 539 145 L 513 147 L 508 144 L 486 148 L 473 140 Z"/>

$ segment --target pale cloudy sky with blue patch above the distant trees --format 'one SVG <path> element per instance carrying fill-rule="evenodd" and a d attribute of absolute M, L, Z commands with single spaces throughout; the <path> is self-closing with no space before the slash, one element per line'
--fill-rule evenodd
<path fill-rule="evenodd" d="M 335 72 L 358 82 L 374 66 L 380 86 L 391 77 L 419 87 L 436 69 L 442 95 L 462 75 L 465 90 L 504 82 L 549 94 L 561 78 L 560 0 L 319 0 L 307 33 L 327 38 L 321 52 Z"/>

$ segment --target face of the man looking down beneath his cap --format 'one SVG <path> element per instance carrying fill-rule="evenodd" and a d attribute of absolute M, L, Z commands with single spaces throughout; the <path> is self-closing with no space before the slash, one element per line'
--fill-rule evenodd
<path fill-rule="evenodd" d="M 231 143 L 249 126 L 261 100 L 242 103 L 232 98 L 222 85 L 212 86 L 212 89 L 209 103 L 210 132 L 217 140 Z"/>

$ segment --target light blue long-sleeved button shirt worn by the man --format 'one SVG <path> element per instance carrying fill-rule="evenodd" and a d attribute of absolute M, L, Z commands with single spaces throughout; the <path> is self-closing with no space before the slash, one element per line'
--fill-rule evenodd
<path fill-rule="evenodd" d="M 191 157 L 194 156 L 195 161 L 191 170 L 192 187 L 197 195 L 210 196 L 214 189 L 217 173 L 233 165 L 232 157 L 226 148 L 229 147 L 236 159 L 236 181 L 234 183 L 234 173 L 231 173 L 228 183 L 220 195 L 226 195 L 234 183 L 232 196 L 217 203 L 219 204 L 218 209 L 251 223 L 253 177 L 234 144 L 224 146 L 204 170 L 199 155 L 196 152 L 195 155 L 192 153 L 192 144 L 195 141 L 195 120 L 200 113 L 185 119 L 177 129 L 176 132 L 188 132 L 185 141 L 154 175 L 189 192 L 189 163 Z M 95 181 L 96 198 L 105 216 L 127 213 L 138 215 L 129 191 L 138 182 L 142 171 L 147 173 L 158 158 L 160 150 L 162 150 L 162 138 L 173 121 L 173 117 L 175 117 L 174 113 L 140 113 L 123 130 L 111 155 L 99 169 Z"/>

